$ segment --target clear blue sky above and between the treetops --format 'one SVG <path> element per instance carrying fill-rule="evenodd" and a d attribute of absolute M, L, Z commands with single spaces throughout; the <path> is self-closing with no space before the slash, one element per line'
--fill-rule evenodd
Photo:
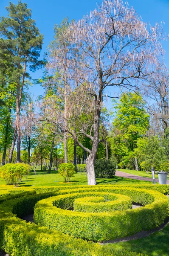
<path fill-rule="evenodd" d="M 17 3 L 17 0 L 11 0 Z M 42 57 L 46 47 L 53 39 L 54 24 L 60 23 L 64 17 L 70 20 L 79 20 L 87 12 L 93 10 L 96 6 L 96 0 L 23 0 L 32 9 L 32 18 L 36 20 L 37 27 L 44 35 L 44 44 L 42 47 Z M 101 3 L 101 0 L 97 1 Z M 164 31 L 169 34 L 169 0 L 128 0 L 129 6 L 142 17 L 145 22 L 154 24 L 156 21 L 164 21 Z M 6 16 L 5 6 L 9 5 L 8 0 L 0 0 L 0 16 Z M 169 41 L 163 43 L 166 50 L 166 64 L 169 68 Z M 32 78 L 37 79 L 42 76 L 42 70 L 37 70 L 31 74 Z M 37 96 L 43 93 L 40 86 L 31 87 L 31 92 Z"/>

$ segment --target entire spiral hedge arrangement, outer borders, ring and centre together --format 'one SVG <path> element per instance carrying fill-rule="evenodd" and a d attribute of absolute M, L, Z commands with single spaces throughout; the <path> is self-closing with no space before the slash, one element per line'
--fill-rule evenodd
<path fill-rule="evenodd" d="M 169 186 L 0 187 L 0 249 L 11 256 L 141 256 L 98 242 L 169 216 Z M 144 207 L 132 209 L 132 203 Z M 21 218 L 34 212 L 35 223 Z"/>

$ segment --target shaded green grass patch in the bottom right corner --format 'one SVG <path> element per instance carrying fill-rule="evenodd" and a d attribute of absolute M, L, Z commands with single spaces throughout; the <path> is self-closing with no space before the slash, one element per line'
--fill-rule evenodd
<path fill-rule="evenodd" d="M 126 249 L 144 253 L 149 256 L 169 256 L 169 224 L 163 230 L 155 232 L 148 237 L 105 246 L 110 246 L 117 250 Z"/>

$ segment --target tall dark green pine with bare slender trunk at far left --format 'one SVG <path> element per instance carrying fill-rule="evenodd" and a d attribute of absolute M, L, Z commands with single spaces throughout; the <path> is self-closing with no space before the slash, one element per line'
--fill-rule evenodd
<path fill-rule="evenodd" d="M 30 78 L 28 71 L 34 72 L 43 64 L 43 61 L 38 60 L 43 36 L 39 33 L 35 20 L 31 19 L 31 9 L 27 8 L 26 3 L 19 1 L 15 5 L 10 2 L 6 10 L 8 17 L 0 19 L 0 55 L 3 60 L 1 61 L 3 74 L 0 78 L 4 79 L 5 74 L 9 73 L 8 82 L 14 84 L 17 89 L 14 140 L 9 156 L 9 163 L 11 163 L 16 139 L 17 162 L 20 162 L 20 106 L 23 88 L 25 78 Z"/>

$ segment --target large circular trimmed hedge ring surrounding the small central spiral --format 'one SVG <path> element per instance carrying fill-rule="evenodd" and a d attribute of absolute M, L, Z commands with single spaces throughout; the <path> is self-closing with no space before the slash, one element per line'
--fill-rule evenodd
<path fill-rule="evenodd" d="M 68 194 L 70 192 L 71 194 Z M 92 195 L 94 192 L 113 192 L 127 195 L 132 201 L 143 204 L 145 207 L 118 212 L 74 212 L 67 210 L 73 206 L 73 201 L 77 197 L 87 196 L 87 192 Z M 36 204 L 35 222 L 87 240 L 105 241 L 129 236 L 142 230 L 149 230 L 158 227 L 169 215 L 168 199 L 155 191 L 115 186 L 94 186 L 61 190 L 60 193 L 68 195 L 44 199 Z M 79 195 L 80 193 L 82 194 Z"/>

